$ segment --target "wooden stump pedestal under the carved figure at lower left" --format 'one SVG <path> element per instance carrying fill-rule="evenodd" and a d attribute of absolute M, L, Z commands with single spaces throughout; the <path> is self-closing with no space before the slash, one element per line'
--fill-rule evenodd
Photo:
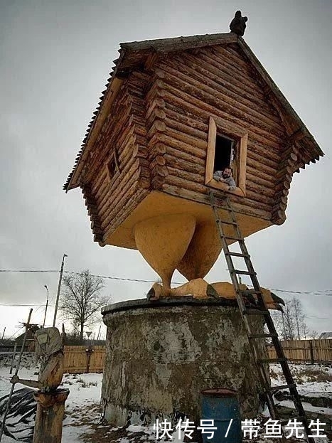
<path fill-rule="evenodd" d="M 33 443 L 61 443 L 63 413 L 68 395 L 69 389 L 57 389 L 53 393 L 37 391 L 33 394 L 37 402 Z"/>

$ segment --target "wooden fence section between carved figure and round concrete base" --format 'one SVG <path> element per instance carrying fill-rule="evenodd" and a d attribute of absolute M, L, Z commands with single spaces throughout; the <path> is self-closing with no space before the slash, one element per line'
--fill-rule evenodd
<path fill-rule="evenodd" d="M 105 346 L 65 346 L 65 373 L 102 373 Z"/>

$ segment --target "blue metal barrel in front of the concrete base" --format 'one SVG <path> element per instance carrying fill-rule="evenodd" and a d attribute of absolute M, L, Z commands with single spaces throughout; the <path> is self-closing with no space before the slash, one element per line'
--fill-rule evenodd
<path fill-rule="evenodd" d="M 201 406 L 202 420 L 214 420 L 214 426 L 217 428 L 212 439 L 208 439 L 209 434 L 202 433 L 203 443 L 242 442 L 240 404 L 235 390 L 203 390 L 201 392 Z M 232 424 L 230 425 L 231 419 Z M 225 437 L 226 434 L 227 437 Z"/>

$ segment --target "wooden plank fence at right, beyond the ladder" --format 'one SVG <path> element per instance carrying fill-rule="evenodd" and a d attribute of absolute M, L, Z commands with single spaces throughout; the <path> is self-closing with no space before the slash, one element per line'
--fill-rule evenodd
<path fill-rule="evenodd" d="M 281 342 L 285 356 L 291 361 L 332 361 L 332 339 L 284 340 Z M 270 358 L 277 358 L 274 348 L 267 346 Z"/>

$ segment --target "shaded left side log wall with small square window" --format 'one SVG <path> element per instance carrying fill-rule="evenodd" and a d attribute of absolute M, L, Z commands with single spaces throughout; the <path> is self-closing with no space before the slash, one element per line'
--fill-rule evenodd
<path fill-rule="evenodd" d="M 124 81 L 87 168 L 86 205 L 101 245 L 143 200 L 150 187 L 144 101 L 148 78 L 144 73 L 132 73 Z M 119 169 L 109 179 L 107 164 L 113 156 Z"/>

